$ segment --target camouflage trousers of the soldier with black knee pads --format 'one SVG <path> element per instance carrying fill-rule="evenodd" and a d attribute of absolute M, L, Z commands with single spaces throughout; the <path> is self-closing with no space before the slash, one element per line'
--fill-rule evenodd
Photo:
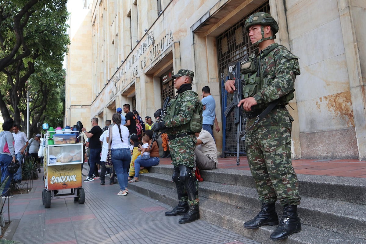
<path fill-rule="evenodd" d="M 197 138 L 194 135 L 175 138 L 169 140 L 170 154 L 172 157 L 172 165 L 174 173 L 172 179 L 176 185 L 178 200 L 180 202 L 188 202 L 189 205 L 198 205 L 198 181 L 195 177 L 194 168 L 194 149 L 196 147 Z M 191 172 L 191 180 L 182 182 L 179 180 L 179 165 L 184 165 Z M 187 191 L 194 192 L 195 197 L 188 198 Z"/>

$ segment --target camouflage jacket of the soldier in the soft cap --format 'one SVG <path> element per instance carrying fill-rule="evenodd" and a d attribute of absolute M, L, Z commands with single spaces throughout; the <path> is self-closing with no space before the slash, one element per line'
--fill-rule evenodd
<path fill-rule="evenodd" d="M 165 126 L 172 128 L 167 134 L 182 134 L 190 132 L 189 121 L 199 104 L 197 93 L 194 91 L 184 92 L 176 95 L 175 106 L 169 106 L 167 116 L 164 118 Z M 171 101 L 171 104 L 174 104 Z M 171 115 L 171 116 L 169 116 Z"/>

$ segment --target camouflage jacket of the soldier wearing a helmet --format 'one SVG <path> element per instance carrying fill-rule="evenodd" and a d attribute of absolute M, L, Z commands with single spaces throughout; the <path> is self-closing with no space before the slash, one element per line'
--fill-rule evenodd
<path fill-rule="evenodd" d="M 270 48 L 271 45 L 265 49 Z M 250 57 L 258 58 L 259 54 L 258 52 L 252 53 Z M 279 45 L 268 53 L 267 56 L 262 57 L 261 72 L 263 78 L 273 80 L 267 87 L 253 95 L 258 105 L 253 106 L 252 110 L 264 109 L 268 106 L 268 103 L 281 97 L 283 99 L 280 100 L 279 104 L 287 104 L 293 98 L 296 75 L 300 75 L 298 57 L 293 55 L 284 46 Z M 285 96 L 287 96 L 287 99 Z"/>

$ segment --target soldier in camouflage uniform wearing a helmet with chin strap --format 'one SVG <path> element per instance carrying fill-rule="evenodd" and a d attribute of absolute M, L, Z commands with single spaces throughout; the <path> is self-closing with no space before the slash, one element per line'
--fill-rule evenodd
<path fill-rule="evenodd" d="M 278 225 L 270 239 L 281 240 L 301 230 L 297 215 L 297 205 L 300 204 L 298 179 L 291 162 L 293 119 L 285 107 L 294 98 L 295 78 L 300 75 L 298 57 L 284 46 L 275 44 L 273 39 L 278 25 L 271 15 L 264 12 L 251 15 L 246 20 L 245 29 L 251 43 L 258 46 L 258 52 L 250 57 L 257 66 L 260 59 L 259 74 L 255 69 L 251 78 L 259 76 L 260 83 L 252 93 L 244 92 L 246 98 L 238 106 L 243 106 L 248 118 L 246 152 L 262 208 L 256 217 L 244 223 L 244 228 Z M 244 80 L 244 85 L 247 84 Z M 233 93 L 234 81 L 228 80 L 225 89 Z M 249 90 L 244 86 L 243 91 Z M 254 124 L 257 116 L 273 101 L 278 104 L 263 120 Z M 280 224 L 275 211 L 277 199 L 284 207 Z"/>

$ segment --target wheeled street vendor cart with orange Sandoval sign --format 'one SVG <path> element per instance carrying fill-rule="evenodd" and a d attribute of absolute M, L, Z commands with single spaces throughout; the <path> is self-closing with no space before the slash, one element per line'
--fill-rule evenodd
<path fill-rule="evenodd" d="M 85 202 L 81 178 L 83 143 L 76 143 L 79 133 L 57 133 L 47 131 L 45 134 L 42 203 L 46 209 L 55 199 L 74 198 L 79 204 Z M 71 192 L 64 193 L 67 189 Z"/>

